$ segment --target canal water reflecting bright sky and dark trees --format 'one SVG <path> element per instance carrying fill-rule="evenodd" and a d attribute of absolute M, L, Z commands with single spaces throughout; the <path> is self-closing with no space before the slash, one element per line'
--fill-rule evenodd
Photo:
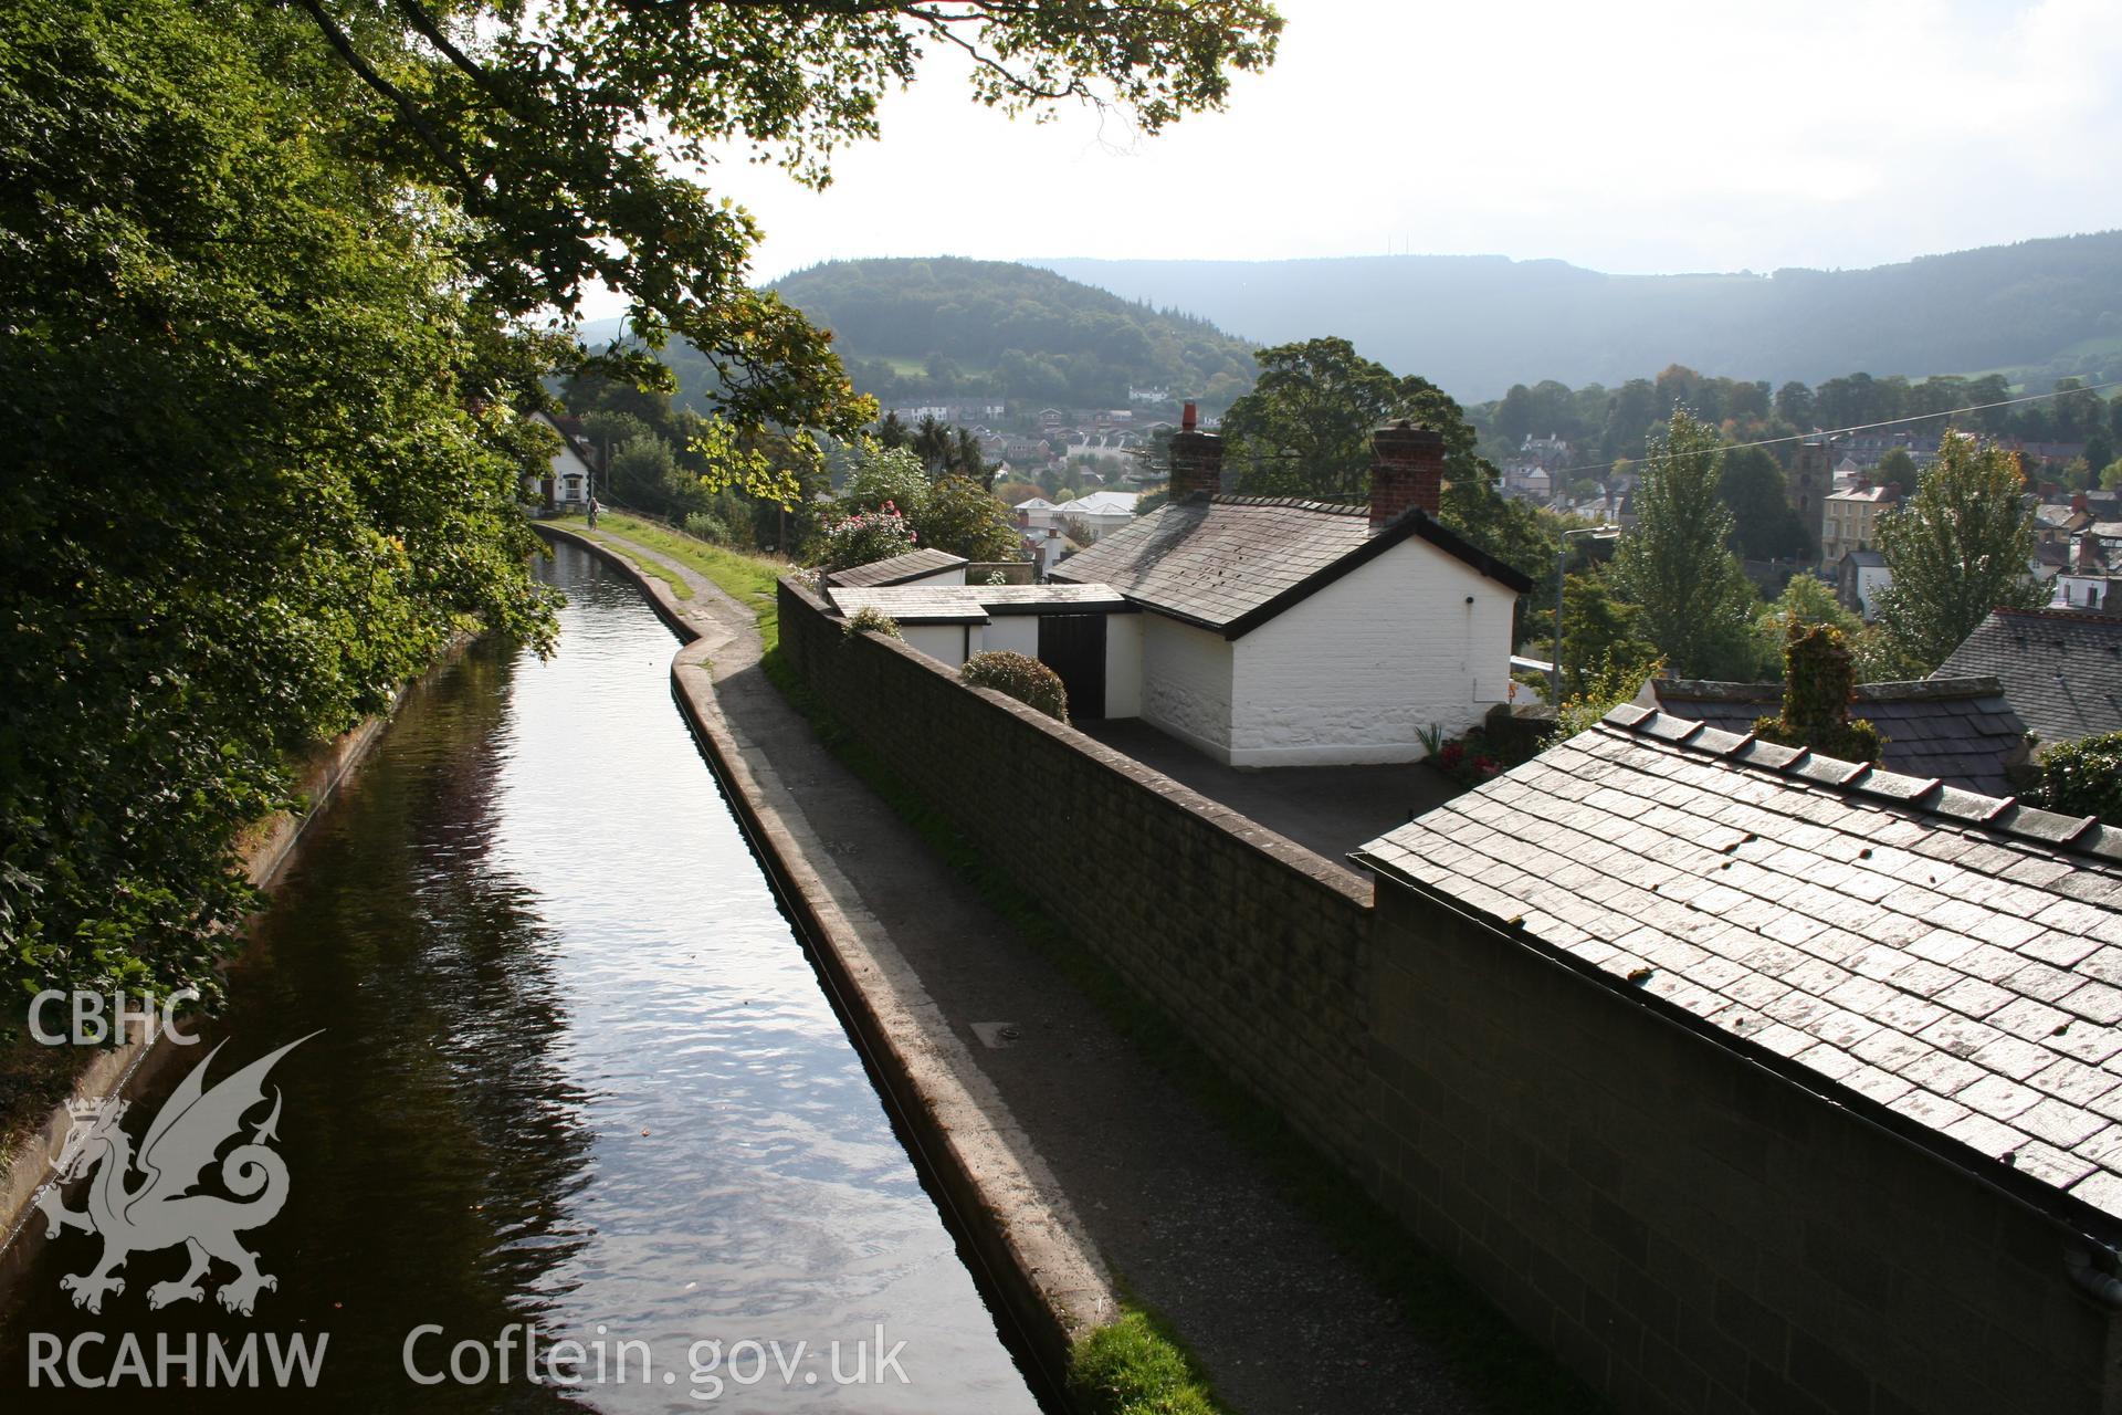
<path fill-rule="evenodd" d="M 172 1245 L 91 1315 L 62 1277 L 102 1239 L 66 1230 L 0 1307 L 0 1409 L 110 1377 L 140 1411 L 1038 1409 L 677 713 L 668 630 L 586 552 L 541 573 L 560 651 L 477 645 L 412 696 L 125 1118 L 140 1143 L 216 1042 L 208 1086 L 306 1037 L 242 1129 L 278 1093 L 284 1209 L 236 1235 L 278 1286 L 223 1311 L 216 1262 L 155 1311 Z M 297 1339 L 323 1358 L 289 1394 Z M 246 1349 L 259 1387 L 227 1390 Z"/>

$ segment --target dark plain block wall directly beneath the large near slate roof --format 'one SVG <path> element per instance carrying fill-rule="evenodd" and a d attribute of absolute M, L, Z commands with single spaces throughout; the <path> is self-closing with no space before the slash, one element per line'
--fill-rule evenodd
<path fill-rule="evenodd" d="M 1441 904 L 1377 925 L 1369 1188 L 1617 1409 L 2116 1409 L 2065 1226 Z"/>

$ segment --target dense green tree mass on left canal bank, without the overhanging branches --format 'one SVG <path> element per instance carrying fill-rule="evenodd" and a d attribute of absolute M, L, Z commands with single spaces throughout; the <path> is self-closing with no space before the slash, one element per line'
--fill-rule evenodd
<path fill-rule="evenodd" d="M 467 626 L 543 641 L 458 216 L 320 132 L 342 76 L 206 0 L 0 8 L 0 957 L 212 991 L 286 757 Z M 269 59 L 269 62 L 267 62 Z"/>

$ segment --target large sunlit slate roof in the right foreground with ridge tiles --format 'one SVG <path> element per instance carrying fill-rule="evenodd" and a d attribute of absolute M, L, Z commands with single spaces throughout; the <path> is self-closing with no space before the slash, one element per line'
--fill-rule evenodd
<path fill-rule="evenodd" d="M 2122 829 L 1628 704 L 1356 859 L 2122 1233 Z"/>

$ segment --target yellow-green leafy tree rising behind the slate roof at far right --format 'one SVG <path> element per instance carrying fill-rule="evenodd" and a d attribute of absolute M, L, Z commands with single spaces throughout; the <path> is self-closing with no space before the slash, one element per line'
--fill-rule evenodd
<path fill-rule="evenodd" d="M 2048 592 L 2029 573 L 2033 507 L 2018 458 L 1948 433 L 1916 494 L 1878 526 L 1893 583 L 1878 624 L 1925 672 L 1937 668 L 1990 609 L 2035 609 Z"/>

